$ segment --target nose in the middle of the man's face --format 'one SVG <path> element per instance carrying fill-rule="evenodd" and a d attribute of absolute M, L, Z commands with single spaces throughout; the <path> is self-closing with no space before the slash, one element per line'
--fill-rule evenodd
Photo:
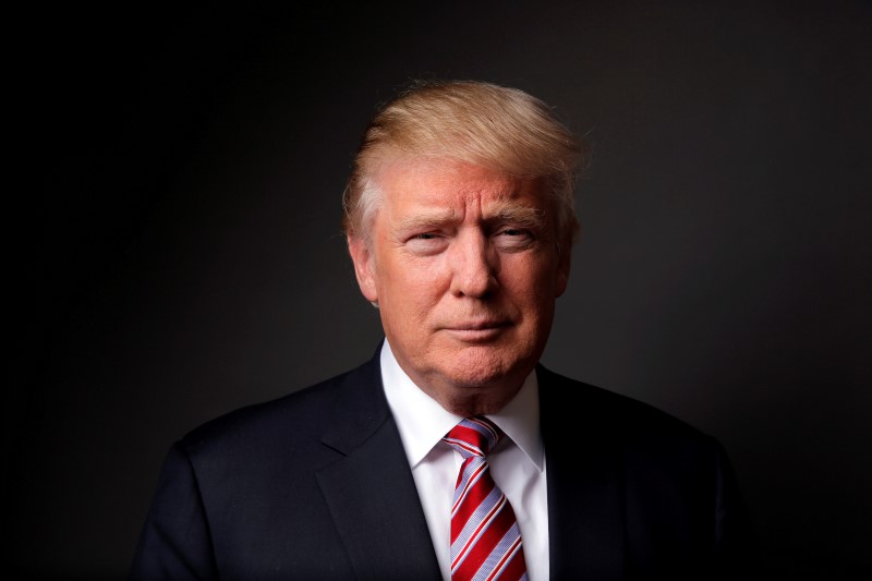
<path fill-rule="evenodd" d="M 482 232 L 464 232 L 451 244 L 451 293 L 482 299 L 497 287 L 497 256 Z"/>

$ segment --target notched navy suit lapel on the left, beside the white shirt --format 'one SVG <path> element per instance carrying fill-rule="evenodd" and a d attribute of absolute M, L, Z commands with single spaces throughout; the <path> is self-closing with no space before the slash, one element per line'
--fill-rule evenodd
<path fill-rule="evenodd" d="M 320 470 L 317 480 L 352 568 L 362 579 L 439 579 L 378 358 L 346 384 L 323 437 L 344 457 Z"/>

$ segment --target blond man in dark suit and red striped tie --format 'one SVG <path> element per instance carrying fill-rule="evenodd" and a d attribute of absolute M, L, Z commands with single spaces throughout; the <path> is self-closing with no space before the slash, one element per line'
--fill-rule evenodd
<path fill-rule="evenodd" d="M 579 152 L 517 89 L 422 83 L 382 107 L 343 205 L 385 341 L 173 446 L 132 577 L 741 573 L 747 520 L 720 446 L 538 364 Z"/>

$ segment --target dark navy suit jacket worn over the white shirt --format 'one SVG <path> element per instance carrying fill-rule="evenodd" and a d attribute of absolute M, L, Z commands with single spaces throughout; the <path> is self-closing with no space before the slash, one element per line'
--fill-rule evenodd
<path fill-rule="evenodd" d="M 748 521 L 716 441 L 647 404 L 537 374 L 554 579 L 748 571 Z M 131 577 L 439 579 L 378 356 L 177 443 Z"/>

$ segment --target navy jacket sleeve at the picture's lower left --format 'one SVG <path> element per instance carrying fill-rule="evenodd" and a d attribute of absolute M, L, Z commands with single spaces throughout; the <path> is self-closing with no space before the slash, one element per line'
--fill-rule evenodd
<path fill-rule="evenodd" d="M 191 460 L 169 451 L 140 536 L 131 580 L 217 579 L 209 524 Z"/>

